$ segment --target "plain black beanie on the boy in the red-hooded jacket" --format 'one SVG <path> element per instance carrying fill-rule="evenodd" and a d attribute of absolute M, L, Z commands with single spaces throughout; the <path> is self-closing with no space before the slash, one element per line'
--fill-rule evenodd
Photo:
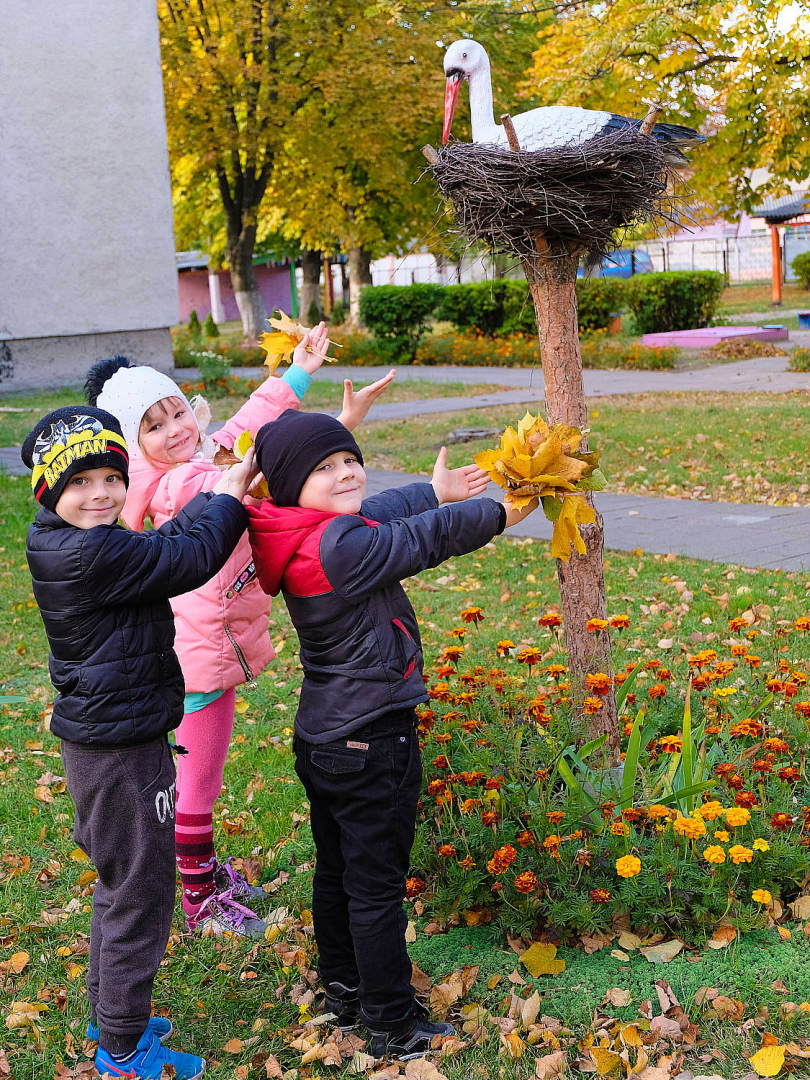
<path fill-rule="evenodd" d="M 352 433 L 325 413 L 288 408 L 256 435 L 256 461 L 278 507 L 297 507 L 312 470 L 340 450 L 353 454 L 363 464 Z"/>

